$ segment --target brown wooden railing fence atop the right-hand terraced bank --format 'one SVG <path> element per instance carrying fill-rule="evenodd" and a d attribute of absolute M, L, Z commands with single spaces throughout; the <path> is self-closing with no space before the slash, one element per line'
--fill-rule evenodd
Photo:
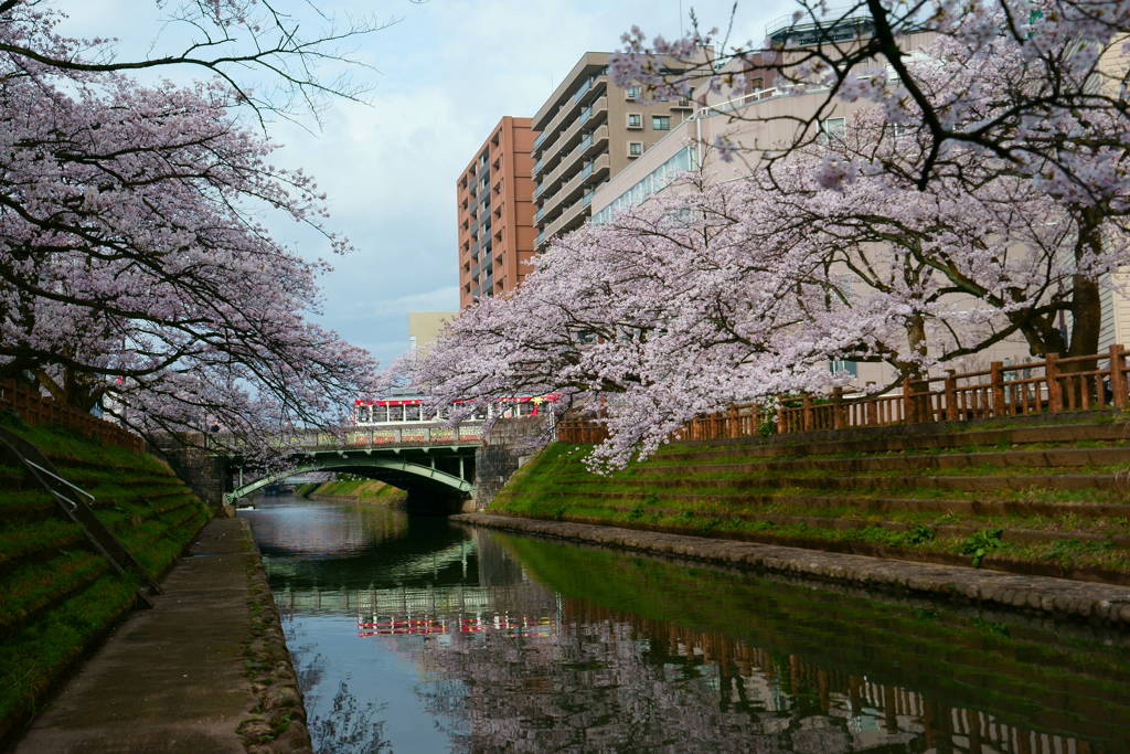
<path fill-rule="evenodd" d="M 988 370 L 906 380 L 902 391 L 880 396 L 793 396 L 777 400 L 775 411 L 758 404 L 736 404 L 696 417 L 676 433 L 678 440 L 727 440 L 758 434 L 815 432 L 849 427 L 959 422 L 1024 416 L 1043 411 L 1124 409 L 1128 395 L 1124 346 L 1088 356 L 1023 364 L 993 362 Z M 597 443 L 608 436 L 594 418 L 566 418 L 557 427 L 562 442 Z"/>

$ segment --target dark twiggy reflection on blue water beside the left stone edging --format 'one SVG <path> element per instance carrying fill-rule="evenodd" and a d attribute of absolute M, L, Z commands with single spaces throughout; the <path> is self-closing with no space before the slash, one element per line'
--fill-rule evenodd
<path fill-rule="evenodd" d="M 325 676 L 325 656 L 318 652 L 313 643 L 298 644 L 293 626 L 289 629 L 287 641 L 305 701 L 306 725 L 314 751 L 319 754 L 391 752 L 382 719 L 388 704 L 358 703 L 349 690 L 349 676 L 338 683 L 333 697 L 327 703 L 320 692 Z"/>

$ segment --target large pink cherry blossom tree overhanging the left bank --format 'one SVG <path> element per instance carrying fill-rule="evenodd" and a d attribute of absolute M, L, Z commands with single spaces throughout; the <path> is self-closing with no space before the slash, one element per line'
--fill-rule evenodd
<path fill-rule="evenodd" d="M 275 18 L 273 44 L 257 9 Z M 278 105 L 232 68 L 275 71 L 299 97 L 332 87 L 306 68 L 319 45 L 272 3 L 180 12 L 203 41 L 123 62 L 101 40 L 56 35 L 59 14 L 41 3 L 0 3 L 0 376 L 142 432 L 218 426 L 267 449 L 271 432 L 340 418 L 375 365 L 308 321 L 329 266 L 270 225 L 305 224 L 339 253 L 349 244 L 325 226 L 311 176 L 272 165 L 275 146 L 242 124 L 249 101 Z M 237 28 L 246 54 L 229 52 Z M 177 63 L 216 76 L 190 87 L 129 76 Z"/>

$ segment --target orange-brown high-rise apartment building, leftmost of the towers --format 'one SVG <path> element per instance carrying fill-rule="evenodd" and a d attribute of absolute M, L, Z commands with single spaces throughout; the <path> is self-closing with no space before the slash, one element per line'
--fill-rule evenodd
<path fill-rule="evenodd" d="M 514 289 L 530 271 L 534 136 L 529 118 L 505 115 L 455 183 L 460 309 Z"/>

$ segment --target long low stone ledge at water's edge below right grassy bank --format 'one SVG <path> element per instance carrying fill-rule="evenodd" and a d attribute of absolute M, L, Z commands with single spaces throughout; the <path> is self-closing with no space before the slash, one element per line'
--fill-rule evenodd
<path fill-rule="evenodd" d="M 452 520 L 520 534 L 1130 627 L 1130 588 L 1115 584 L 488 513 L 455 515 Z"/>

